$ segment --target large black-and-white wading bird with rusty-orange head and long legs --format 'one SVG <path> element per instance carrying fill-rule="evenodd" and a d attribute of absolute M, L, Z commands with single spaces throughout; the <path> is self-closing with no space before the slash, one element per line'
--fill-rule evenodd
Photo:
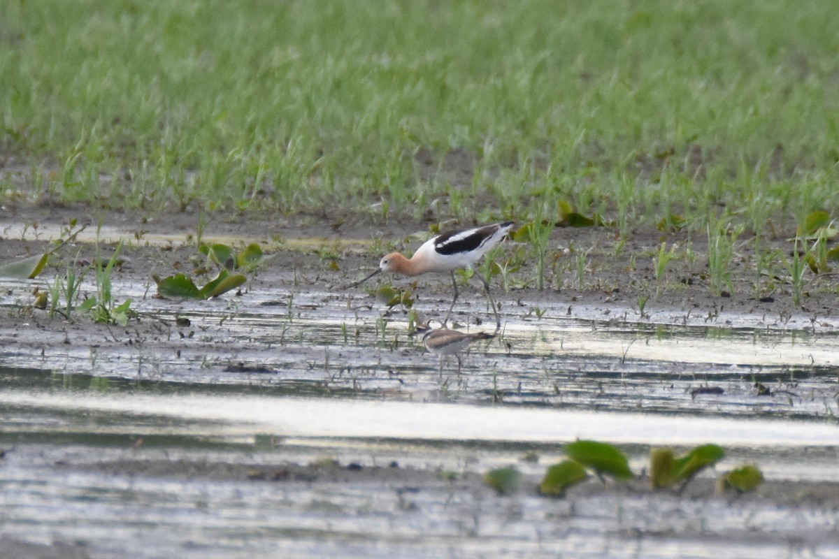
<path fill-rule="evenodd" d="M 451 300 L 449 311 L 443 320 L 443 326 L 446 326 L 458 295 L 455 270 L 472 268 L 475 262 L 480 260 L 487 251 L 494 246 L 498 246 L 498 243 L 507 236 L 511 229 L 513 229 L 513 222 L 505 221 L 474 229 L 441 233 L 425 241 L 410 259 L 405 258 L 399 252 L 391 252 L 384 256 L 378 264 L 378 270 L 360 282 L 353 283 L 352 287 L 361 285 L 379 272 L 393 272 L 404 276 L 449 272 L 451 273 L 451 285 L 455 289 L 455 297 Z M 492 295 L 489 292 L 489 282 L 481 274 L 475 272 L 475 275 L 481 280 L 484 289 L 487 291 L 487 300 L 492 305 L 492 313 L 495 313 L 496 331 L 498 331 L 501 328 L 501 317 L 498 316 L 498 308 L 496 308 L 495 301 L 492 300 Z"/>

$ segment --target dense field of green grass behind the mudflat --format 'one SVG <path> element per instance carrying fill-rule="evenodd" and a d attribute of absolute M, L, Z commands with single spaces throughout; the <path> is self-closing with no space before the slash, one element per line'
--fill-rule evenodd
<path fill-rule="evenodd" d="M 31 170 L 0 188 L 413 219 L 439 198 L 524 218 L 548 193 L 622 234 L 670 214 L 704 234 L 721 206 L 791 227 L 839 202 L 835 8 L 8 0 L 0 157 Z"/>

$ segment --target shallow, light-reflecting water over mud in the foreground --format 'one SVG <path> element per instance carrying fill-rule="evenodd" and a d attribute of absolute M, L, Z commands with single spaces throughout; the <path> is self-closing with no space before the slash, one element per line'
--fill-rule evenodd
<path fill-rule="evenodd" d="M 636 472 L 652 445 L 710 442 L 727 449 L 717 472 L 755 462 L 774 481 L 839 482 L 839 338 L 805 317 L 568 316 L 543 302 L 536 318 L 523 302 L 458 373 L 363 293 L 256 285 L 171 302 L 126 277 L 118 292 L 143 316 L 118 329 L 26 318 L 16 309 L 32 285 L 0 281 L 6 536 L 81 542 L 91 557 L 839 554 L 836 504 L 802 516 L 712 488 L 503 497 L 440 475 L 514 463 L 537 483 L 562 443 L 592 438 L 621 445 Z M 324 457 L 396 462 L 403 476 L 190 474 Z M 158 463 L 183 465 L 144 469 Z"/>

